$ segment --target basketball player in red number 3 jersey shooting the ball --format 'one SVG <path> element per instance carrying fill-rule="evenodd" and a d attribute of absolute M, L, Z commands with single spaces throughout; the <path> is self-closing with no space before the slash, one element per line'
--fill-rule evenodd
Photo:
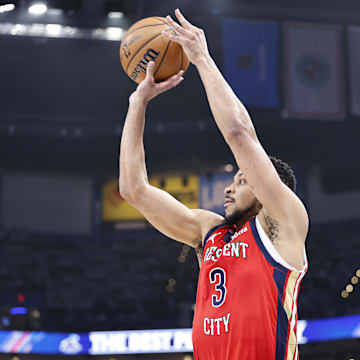
<path fill-rule="evenodd" d="M 210 57 L 203 30 L 176 10 L 164 33 L 199 71 L 215 121 L 239 171 L 225 189 L 226 218 L 190 210 L 148 183 L 143 131 L 155 96 L 183 80 L 155 83 L 154 63 L 130 96 L 120 150 L 120 193 L 168 237 L 196 249 L 200 264 L 193 321 L 197 360 L 298 359 L 297 297 L 307 269 L 306 210 L 289 166 L 269 158 L 250 116 Z"/>

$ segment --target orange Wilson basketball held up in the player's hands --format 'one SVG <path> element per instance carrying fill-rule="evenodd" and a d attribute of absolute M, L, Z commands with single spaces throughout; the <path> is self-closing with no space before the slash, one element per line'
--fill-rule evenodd
<path fill-rule="evenodd" d="M 120 45 L 120 61 L 130 79 L 141 83 L 146 66 L 155 61 L 155 81 L 160 82 L 186 70 L 189 59 L 181 45 L 169 40 L 161 32 L 172 31 L 162 17 L 149 17 L 132 25 Z"/>

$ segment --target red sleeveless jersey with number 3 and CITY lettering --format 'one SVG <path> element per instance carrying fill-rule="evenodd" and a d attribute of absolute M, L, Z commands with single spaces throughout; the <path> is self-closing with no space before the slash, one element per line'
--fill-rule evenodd
<path fill-rule="evenodd" d="M 305 254 L 305 248 L 304 248 Z M 307 271 L 281 258 L 257 218 L 204 239 L 196 295 L 196 360 L 297 360 L 297 297 Z"/>

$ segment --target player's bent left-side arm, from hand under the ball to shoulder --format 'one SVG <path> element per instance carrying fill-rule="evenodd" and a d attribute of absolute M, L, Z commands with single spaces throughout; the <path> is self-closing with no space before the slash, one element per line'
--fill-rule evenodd
<path fill-rule="evenodd" d="M 177 86 L 183 72 L 156 84 L 154 63 L 147 66 L 146 79 L 130 96 L 129 110 L 121 138 L 119 189 L 121 196 L 139 210 L 160 232 L 194 248 L 222 217 L 204 210 L 190 210 L 167 192 L 148 182 L 143 133 L 145 111 L 155 96 Z"/>

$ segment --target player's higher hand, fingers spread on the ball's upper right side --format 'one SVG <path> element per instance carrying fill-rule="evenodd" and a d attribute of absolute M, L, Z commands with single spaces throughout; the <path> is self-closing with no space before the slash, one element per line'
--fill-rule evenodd
<path fill-rule="evenodd" d="M 197 28 L 186 20 L 179 9 L 175 10 L 175 15 L 181 25 L 168 15 L 166 21 L 173 31 L 163 31 L 162 34 L 169 40 L 180 44 L 189 60 L 196 66 L 201 59 L 209 56 L 204 30 Z"/>

